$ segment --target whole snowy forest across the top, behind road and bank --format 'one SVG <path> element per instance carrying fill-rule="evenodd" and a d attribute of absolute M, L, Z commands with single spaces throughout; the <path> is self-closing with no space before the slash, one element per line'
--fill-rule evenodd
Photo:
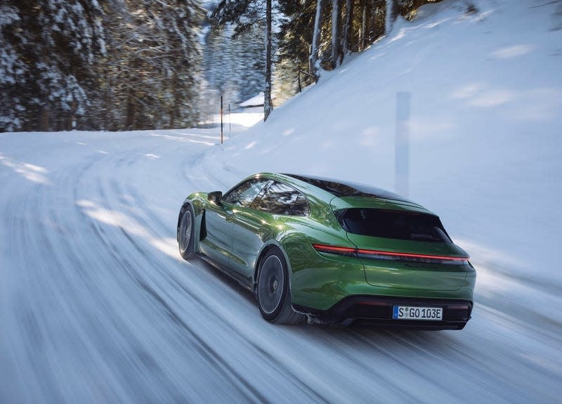
<path fill-rule="evenodd" d="M 267 119 L 430 2 L 1 0 L 0 131 L 192 127 L 261 92 Z"/>

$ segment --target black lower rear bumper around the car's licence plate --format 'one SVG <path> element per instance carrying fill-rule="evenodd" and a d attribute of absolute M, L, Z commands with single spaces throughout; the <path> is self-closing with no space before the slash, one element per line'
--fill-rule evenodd
<path fill-rule="evenodd" d="M 443 320 L 394 320 L 393 306 L 423 306 L 443 308 Z M 471 318 L 472 302 L 456 299 L 419 299 L 407 297 L 351 296 L 341 299 L 331 308 L 321 311 L 295 305 L 297 311 L 308 313 L 322 322 L 341 325 L 352 323 L 400 327 L 417 330 L 462 330 Z"/>

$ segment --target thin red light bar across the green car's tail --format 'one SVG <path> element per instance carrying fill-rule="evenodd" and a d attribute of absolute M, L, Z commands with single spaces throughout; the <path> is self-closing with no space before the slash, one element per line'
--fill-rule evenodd
<path fill-rule="evenodd" d="M 424 263 L 450 263 L 454 265 L 462 265 L 469 261 L 468 256 L 444 256 L 431 254 L 411 254 L 409 252 L 389 252 L 379 251 L 375 249 L 360 249 L 353 247 L 337 247 L 334 245 L 313 244 L 314 249 L 318 252 L 327 252 L 328 254 L 358 256 L 360 258 L 372 259 L 393 259 L 400 261 L 415 261 Z"/>

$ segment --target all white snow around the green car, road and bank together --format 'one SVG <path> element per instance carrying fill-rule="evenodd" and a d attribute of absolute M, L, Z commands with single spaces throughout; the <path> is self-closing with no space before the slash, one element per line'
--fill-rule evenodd
<path fill-rule="evenodd" d="M 1 133 L 0 403 L 560 402 L 562 7 L 476 4 L 422 8 L 224 145 L 216 128 Z M 270 325 L 181 259 L 196 190 L 256 171 L 393 190 L 398 91 L 408 196 L 478 270 L 464 330 Z"/>

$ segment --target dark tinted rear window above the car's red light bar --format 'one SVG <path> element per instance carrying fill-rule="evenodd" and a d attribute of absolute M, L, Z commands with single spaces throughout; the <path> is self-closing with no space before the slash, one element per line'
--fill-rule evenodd
<path fill-rule="evenodd" d="M 398 240 L 452 242 L 437 216 L 411 211 L 353 208 L 335 212 L 348 232 Z"/>

